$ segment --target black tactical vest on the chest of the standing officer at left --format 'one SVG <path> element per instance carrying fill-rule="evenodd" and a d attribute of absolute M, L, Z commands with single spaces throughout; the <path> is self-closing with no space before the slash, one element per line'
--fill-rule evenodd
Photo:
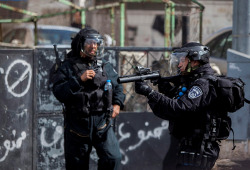
<path fill-rule="evenodd" d="M 86 82 L 82 82 L 81 91 L 77 92 L 76 101 L 70 107 L 71 111 L 88 115 L 90 112 L 107 111 L 105 106 L 106 95 L 104 94 L 104 85 L 107 80 L 107 74 L 102 61 L 94 61 L 93 63 L 82 62 L 80 59 L 75 60 L 73 70 L 77 77 L 80 77 L 86 70 L 94 70 L 95 77 Z"/>

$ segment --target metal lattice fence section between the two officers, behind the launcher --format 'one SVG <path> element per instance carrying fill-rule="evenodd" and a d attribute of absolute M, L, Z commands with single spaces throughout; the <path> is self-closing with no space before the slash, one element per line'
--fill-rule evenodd
<path fill-rule="evenodd" d="M 135 74 L 135 67 L 142 66 L 152 71 L 159 71 L 161 76 L 168 76 L 168 53 L 172 47 L 106 47 L 105 57 L 117 70 L 120 76 Z M 111 56 L 110 56 L 111 55 Z M 115 56 L 112 56 L 115 55 Z M 108 57 L 107 57 L 108 56 Z M 111 58 L 117 58 L 119 63 L 113 63 Z M 148 81 L 148 83 L 151 83 Z M 151 83 L 152 85 L 152 83 Z M 134 90 L 134 83 L 124 83 L 126 94 L 123 111 L 145 112 L 151 111 L 147 98 L 138 95 Z M 152 88 L 157 88 L 152 85 Z"/>

